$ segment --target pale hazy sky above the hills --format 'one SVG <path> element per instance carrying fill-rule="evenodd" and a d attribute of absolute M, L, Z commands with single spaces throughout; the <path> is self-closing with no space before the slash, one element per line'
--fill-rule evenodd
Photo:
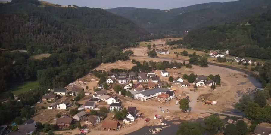
<path fill-rule="evenodd" d="M 228 2 L 236 0 L 45 0 L 45 1 L 61 5 L 75 4 L 80 7 L 86 6 L 103 9 L 115 7 L 172 9 L 207 2 Z"/>

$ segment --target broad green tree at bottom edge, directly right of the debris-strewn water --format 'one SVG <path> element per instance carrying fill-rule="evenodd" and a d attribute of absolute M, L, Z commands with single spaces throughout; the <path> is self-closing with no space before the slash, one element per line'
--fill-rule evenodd
<path fill-rule="evenodd" d="M 197 122 L 182 122 L 176 135 L 202 135 L 201 124 Z"/>

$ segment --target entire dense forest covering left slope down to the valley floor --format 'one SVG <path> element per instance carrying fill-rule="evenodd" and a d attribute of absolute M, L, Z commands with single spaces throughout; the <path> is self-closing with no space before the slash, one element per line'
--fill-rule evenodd
<path fill-rule="evenodd" d="M 39 6 L 37 0 L 0 4 L 0 92 L 14 83 L 39 80 L 63 87 L 101 62 L 127 60 L 123 48 L 149 39 L 133 22 L 102 9 Z M 10 52 L 11 50 L 27 50 Z M 51 53 L 41 60 L 31 55 Z"/>

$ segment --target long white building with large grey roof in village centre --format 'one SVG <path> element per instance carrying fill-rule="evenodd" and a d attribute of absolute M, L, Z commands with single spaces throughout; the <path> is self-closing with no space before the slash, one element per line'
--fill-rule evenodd
<path fill-rule="evenodd" d="M 151 90 L 146 90 L 143 92 L 139 92 L 135 95 L 136 99 L 141 99 L 141 101 L 147 101 L 153 98 L 157 98 L 157 96 L 161 93 L 166 93 L 169 89 L 167 88 L 154 88 Z"/>

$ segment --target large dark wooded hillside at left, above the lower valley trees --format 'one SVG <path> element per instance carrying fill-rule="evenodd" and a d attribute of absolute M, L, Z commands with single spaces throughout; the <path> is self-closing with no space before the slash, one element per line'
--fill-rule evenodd
<path fill-rule="evenodd" d="M 79 46 L 94 50 L 125 47 L 148 39 L 144 29 L 103 9 L 39 6 L 35 0 L 25 1 L 0 4 L 0 48 L 29 47 L 33 52 L 52 53 Z"/>

